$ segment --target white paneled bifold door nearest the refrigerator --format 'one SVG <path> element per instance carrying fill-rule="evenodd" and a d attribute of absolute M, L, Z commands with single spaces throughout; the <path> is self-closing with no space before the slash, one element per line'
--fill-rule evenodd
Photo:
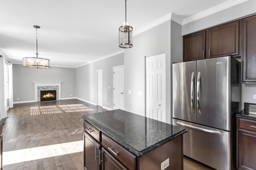
<path fill-rule="evenodd" d="M 146 57 L 146 117 L 166 122 L 165 53 Z"/>

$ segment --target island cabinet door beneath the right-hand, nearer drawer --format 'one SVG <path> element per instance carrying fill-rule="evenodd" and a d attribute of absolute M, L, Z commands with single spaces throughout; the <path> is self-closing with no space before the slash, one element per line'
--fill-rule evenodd
<path fill-rule="evenodd" d="M 102 148 L 101 157 L 102 170 L 128 170 L 104 148 Z"/>

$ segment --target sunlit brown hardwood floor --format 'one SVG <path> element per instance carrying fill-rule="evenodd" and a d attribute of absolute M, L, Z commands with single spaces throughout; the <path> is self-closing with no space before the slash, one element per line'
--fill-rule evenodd
<path fill-rule="evenodd" d="M 82 170 L 81 116 L 104 110 L 76 99 L 14 104 L 3 125 L 4 170 Z M 208 169 L 184 158 L 184 170 Z"/>

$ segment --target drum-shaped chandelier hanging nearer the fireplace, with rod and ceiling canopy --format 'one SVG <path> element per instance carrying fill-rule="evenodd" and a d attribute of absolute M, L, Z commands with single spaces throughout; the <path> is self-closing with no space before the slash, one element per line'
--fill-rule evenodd
<path fill-rule="evenodd" d="M 23 66 L 29 68 L 50 68 L 50 60 L 38 58 L 37 52 L 37 29 L 40 28 L 38 25 L 33 25 L 36 28 L 36 57 L 24 57 Z"/>

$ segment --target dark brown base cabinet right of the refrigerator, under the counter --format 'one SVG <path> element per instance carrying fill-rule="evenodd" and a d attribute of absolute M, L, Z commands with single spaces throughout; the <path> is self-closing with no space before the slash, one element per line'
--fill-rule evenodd
<path fill-rule="evenodd" d="M 237 118 L 238 169 L 256 169 L 256 120 Z"/>

